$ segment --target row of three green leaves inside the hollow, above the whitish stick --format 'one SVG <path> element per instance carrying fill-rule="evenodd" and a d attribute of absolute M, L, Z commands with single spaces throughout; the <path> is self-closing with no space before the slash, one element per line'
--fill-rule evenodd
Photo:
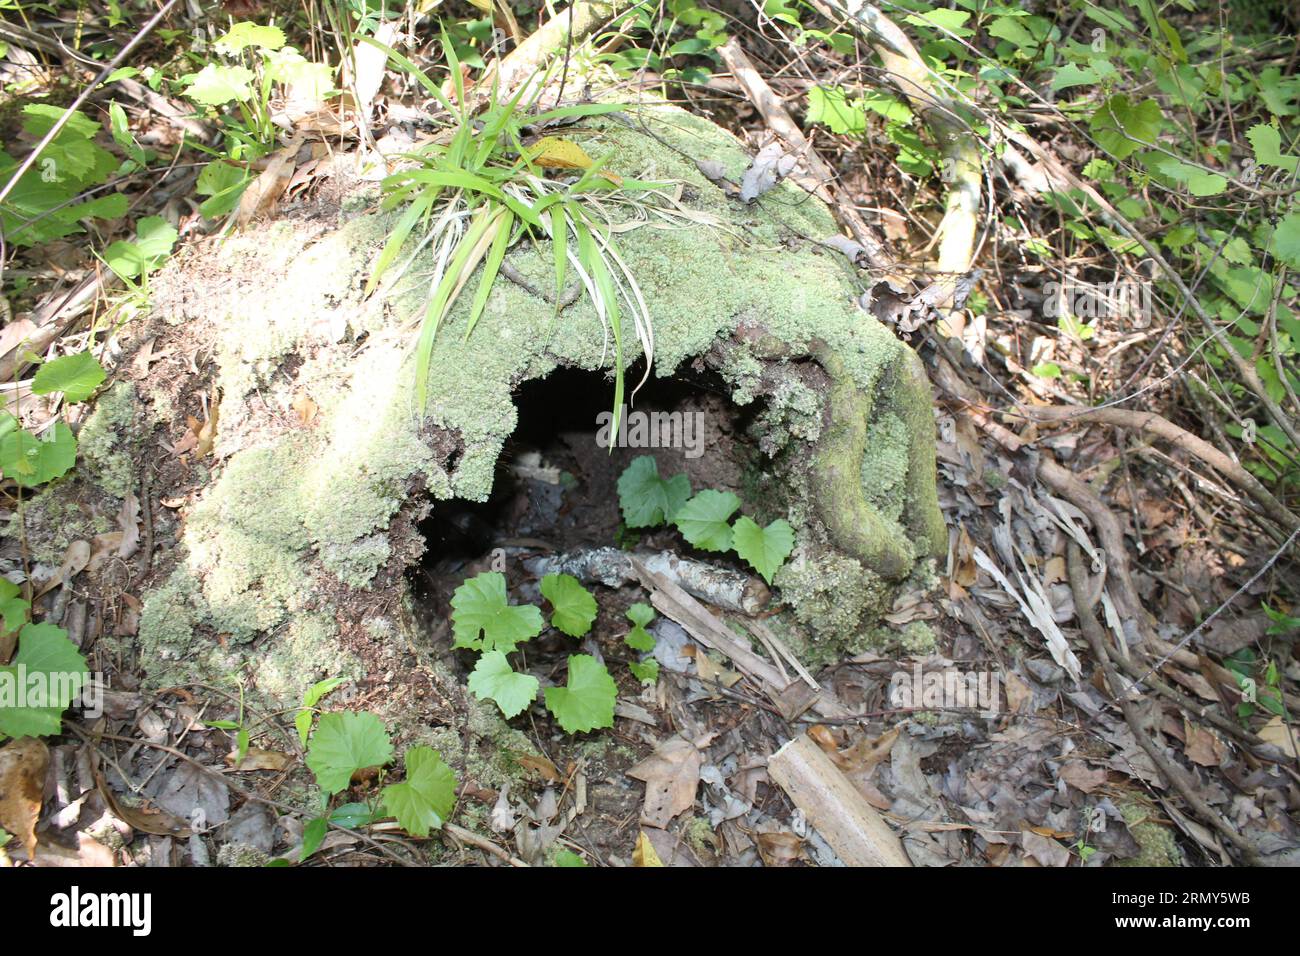
<path fill-rule="evenodd" d="M 740 515 L 741 501 L 732 492 L 705 489 L 690 494 L 685 475 L 659 476 L 653 455 L 640 455 L 619 476 L 619 507 L 629 528 L 672 524 L 686 541 L 705 551 L 736 551 L 768 584 L 794 550 L 794 529 L 784 518 L 766 528 Z"/>

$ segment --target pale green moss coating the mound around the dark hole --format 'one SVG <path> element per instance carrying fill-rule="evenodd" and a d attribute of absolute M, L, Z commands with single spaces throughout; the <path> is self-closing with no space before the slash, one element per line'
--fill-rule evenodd
<path fill-rule="evenodd" d="M 836 232 L 823 204 L 783 183 L 760 203 L 741 207 L 694 165 L 694 157 L 708 156 L 738 177 L 749 156 L 737 140 L 676 109 L 637 112 L 637 122 L 649 124 L 658 139 L 616 118 L 584 124 L 580 135 L 593 155 L 612 151 L 611 166 L 625 177 L 677 181 L 692 209 L 681 228 L 646 225 L 616 234 L 653 317 L 654 373 L 673 375 L 750 323 L 793 355 L 816 352 L 841 405 L 858 415 L 853 433 L 837 440 L 826 433 L 822 398 L 793 373 L 764 377 L 771 363 L 744 349 L 724 369 L 738 403 L 764 399 L 763 450 L 797 459 L 801 442 L 815 444 L 822 463 L 840 476 L 850 546 L 842 533 L 827 538 L 819 525 L 827 510 L 812 507 L 807 484 L 794 483 L 784 505 L 801 532 L 802 557 L 783 568 L 777 585 L 818 640 L 842 646 L 887 601 L 888 588 L 863 561 L 887 550 L 898 578 L 913 554 L 931 546 L 937 505 L 928 392 L 915 382 L 900 386 L 913 381 L 905 377 L 911 352 L 857 308 L 844 258 L 819 245 Z M 502 277 L 472 337 L 464 336 L 469 295 L 443 324 L 421 418 L 412 398 L 411 346 L 434 269 L 432 252 L 416 256 L 385 294 L 363 298 L 393 213 L 364 213 L 360 203 L 344 208 L 338 228 L 294 220 L 248 230 L 207 264 L 221 277 L 202 299 L 205 323 L 199 323 L 218 364 L 214 480 L 186 516 L 183 568 L 148 596 L 140 626 L 146 650 L 177 670 L 276 659 L 299 639 L 316 650 L 295 653 L 322 667 L 342 666 L 325 650 L 334 639 L 321 620 L 306 631 L 298 623 L 322 593 L 322 576 L 368 587 L 391 561 L 389 523 L 416 490 L 486 499 L 517 420 L 512 392 L 521 381 L 558 365 L 610 367 L 612 343 L 585 298 L 556 317 L 550 304 Z M 521 242 L 508 255 L 534 287 L 554 282 L 546 243 Z M 169 281 L 187 282 L 165 269 L 159 287 Z M 630 364 L 640 346 L 628 317 L 624 333 Z M 299 423 L 292 411 L 303 394 L 317 406 L 311 423 Z M 840 427 L 835 414 L 829 421 Z M 926 477 L 918 477 L 927 449 L 928 503 Z M 918 509 L 930 510 L 918 518 Z M 855 524 L 863 514 L 875 514 L 875 523 Z M 217 635 L 225 646 L 216 644 Z M 277 693 L 292 684 L 287 671 L 268 679 Z M 491 766 L 474 773 L 508 775 Z"/>

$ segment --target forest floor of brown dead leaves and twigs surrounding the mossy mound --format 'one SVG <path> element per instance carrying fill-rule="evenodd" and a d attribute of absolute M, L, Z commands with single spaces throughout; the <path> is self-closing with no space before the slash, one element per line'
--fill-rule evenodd
<path fill-rule="evenodd" d="M 807 59 L 774 22 L 738 33 L 789 109 L 802 113 L 810 86 L 861 66 L 855 53 L 838 51 Z M 10 81 L 31 68 L 16 55 L 21 49 L 0 61 Z M 1292 49 L 1283 53 L 1295 60 Z M 619 82 L 628 95 L 666 88 L 645 72 Z M 381 75 L 381 83 L 365 134 L 373 140 L 400 133 L 417 105 L 400 78 Z M 771 109 L 755 105 L 724 66 L 670 88 L 753 153 L 776 139 Z M 178 143 L 178 117 L 190 104 L 140 85 L 135 95 L 133 135 L 159 147 Z M 325 202 L 325 155 L 361 148 L 355 124 L 342 133 L 308 127 L 296 127 L 291 152 L 277 153 L 296 165 L 280 174 L 283 195 L 263 203 L 250 222 Z M 1056 117 L 1031 130 L 1074 173 L 1101 156 Z M 312 137 L 328 148 L 304 147 Z M 836 173 L 836 208 L 850 207 L 850 219 L 879 230 L 897 260 L 923 276 L 945 182 L 902 170 L 871 137 L 826 129 L 814 137 Z M 364 605 L 372 600 L 365 589 L 338 585 L 332 594 L 372 617 L 402 613 L 391 596 L 412 596 L 404 610 L 420 646 L 350 635 L 367 679 L 337 702 L 364 709 L 399 701 L 413 721 L 459 736 L 455 814 L 430 838 L 367 819 L 377 782 L 359 777 L 346 800 L 335 800 L 334 809 L 346 803 L 351 816 L 330 818 L 304 865 L 538 865 L 562 849 L 586 865 L 835 865 L 835 848 L 767 771 L 774 753 L 801 734 L 894 826 L 914 865 L 1300 861 L 1300 523 L 1290 510 L 1296 472 L 1279 464 L 1295 449 L 1284 445 L 1286 429 L 1262 424 L 1265 398 L 1296 421 L 1294 354 L 1278 355 L 1278 388 L 1260 398 L 1258 376 L 1235 380 L 1230 362 L 1210 356 L 1188 328 L 1187 304 L 1170 304 L 1165 286 L 1139 268 L 1140 250 L 1115 252 L 1115 243 L 1097 238 L 1109 228 L 1105 216 L 1062 212 L 1028 177 L 1008 174 L 992 155 L 985 163 L 970 298 L 900 319 L 888 299 L 909 297 L 875 285 L 875 313 L 893 315 L 933 386 L 949 549 L 932 587 L 897 596 L 884 618 L 893 641 L 815 672 L 841 715 L 783 710 L 744 662 L 659 617 L 651 627 L 659 678 L 642 685 L 620 671 L 612 728 L 566 735 L 536 706 L 510 722 L 511 737 L 494 736 L 464 689 L 472 658 L 451 646 L 455 588 L 491 568 L 498 549 L 511 555 L 512 584 L 528 588 L 536 587 L 529 561 L 619 540 L 616 480 L 636 455 L 595 447 L 590 421 L 604 395 L 584 394 L 584 382 L 556 373 L 516 397 L 520 425 L 488 503 L 434 509 L 422 523 L 406 515 L 411 520 L 391 532 L 406 536 L 396 550 L 426 554 L 403 581 L 370 592 L 380 596 L 373 607 Z M 1039 164 L 1037 172 L 1052 169 Z M 196 173 L 198 164 L 177 165 L 152 185 L 134 185 L 131 196 L 136 215 L 161 216 L 178 226 L 181 243 L 209 247 L 224 217 L 198 211 Z M 1072 222 L 1087 222 L 1095 245 L 1075 242 Z M 1206 213 L 1199 228 L 1218 224 Z M 105 226 L 101 238 L 108 235 L 117 237 Z M 1026 255 L 1026 235 L 1054 248 L 1052 265 Z M 1192 284 L 1210 264 L 1179 268 Z M 867 276 L 864 289 L 875 280 Z M 1156 290 L 1157 306 L 1121 321 L 1082 315 L 1062 323 L 1044 291 L 1053 276 L 1088 277 L 1092 289 L 1106 276 L 1136 281 L 1139 294 Z M 1256 343 L 1269 339 L 1270 321 L 1277 333 L 1278 310 L 1295 304 L 1286 276 L 1279 267 L 1271 312 L 1253 324 Z M 114 298 L 121 284 L 78 237 L 22 247 L 5 284 L 0 358 L 12 381 L 4 395 L 23 425 L 79 427 L 94 414 L 94 405 L 60 407 L 31 390 L 30 358 L 86 349 L 100 356 L 110 385 L 166 395 L 169 415 L 136 436 L 126 496 L 79 502 L 78 520 L 92 518 L 101 533 L 68 542 L 61 564 L 32 561 L 29 532 L 20 531 L 26 492 L 3 485 L 0 518 L 10 532 L 0 542 L 0 568 L 26 585 L 34 619 L 60 624 L 110 683 L 100 715 L 74 709 L 62 734 L 0 749 L 0 826 L 23 843 L 35 838 L 36 865 L 296 864 L 321 810 L 295 713 L 256 711 L 234 683 L 157 688 L 150 662 L 131 652 L 146 593 L 179 559 L 187 506 L 222 467 L 211 341 L 183 325 L 157 338 L 133 334 L 146 300 L 124 308 Z M 911 286 L 913 295 L 923 285 Z M 872 319 L 864 312 L 863 321 Z M 47 324 L 57 332 L 39 339 Z M 27 355 L 32 341 L 36 356 Z M 646 407 L 705 411 L 736 437 L 694 464 L 656 451 L 662 473 L 696 468 L 696 486 L 738 486 L 744 421 L 725 395 L 689 372 L 660 389 Z M 303 425 L 313 415 L 309 399 L 268 408 Z M 1256 419 L 1261 434 L 1277 438 L 1277 454 L 1253 445 Z M 1240 440 L 1243 428 L 1252 442 Z M 638 546 L 682 550 L 668 532 L 645 535 Z M 647 591 L 634 583 L 608 591 L 584 650 L 625 661 L 627 610 Z M 543 636 L 529 645 L 529 667 L 554 676 L 571 649 L 558 633 Z M 786 671 L 780 656 L 759 654 Z M 945 675 L 946 692 L 926 683 Z M 954 700 L 952 675 L 987 693 Z M 798 683 L 793 667 L 786 676 Z M 931 687 L 937 696 L 926 696 Z M 330 698 L 321 706 L 330 709 Z M 504 762 L 494 750 L 508 752 Z M 0 858 L 26 856 L 16 843 L 0 844 Z"/>

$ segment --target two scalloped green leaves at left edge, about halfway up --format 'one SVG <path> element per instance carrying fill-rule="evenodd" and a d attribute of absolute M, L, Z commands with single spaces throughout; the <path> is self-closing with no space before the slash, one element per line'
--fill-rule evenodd
<path fill-rule="evenodd" d="M 88 351 L 52 359 L 36 369 L 31 392 L 61 392 L 65 402 L 84 402 L 104 382 L 104 369 Z M 66 475 L 77 462 L 77 437 L 56 421 L 44 437 L 18 425 L 0 410 L 0 472 L 23 488 L 34 488 Z"/>

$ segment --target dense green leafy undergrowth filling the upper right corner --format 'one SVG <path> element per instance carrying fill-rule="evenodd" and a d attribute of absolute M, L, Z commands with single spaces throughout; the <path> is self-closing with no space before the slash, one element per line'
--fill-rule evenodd
<path fill-rule="evenodd" d="M 1187 342 L 1190 352 L 1204 352 L 1212 365 L 1210 375 L 1200 376 L 1209 385 L 1190 388 L 1209 388 L 1217 393 L 1213 403 L 1234 407 L 1236 421 L 1226 431 L 1251 446 L 1242 453 L 1251 471 L 1295 484 L 1300 449 L 1274 423 L 1253 420 L 1262 412 L 1228 362 L 1228 350 L 1247 358 L 1274 402 L 1294 402 L 1291 395 L 1300 393 L 1300 319 L 1288 307 L 1297 286 L 1279 276 L 1283 267 L 1300 269 L 1300 206 L 1292 189 L 1300 165 L 1300 79 L 1268 61 L 1270 44 L 1284 55 L 1286 38 L 1269 35 L 1264 17 L 1230 16 L 1223 29 L 1218 8 L 1199 0 L 1164 7 L 1154 0 L 1071 0 L 1067 7 L 1076 16 L 1039 14 L 1002 0 L 942 7 L 897 0 L 888 13 L 906 25 L 920 55 L 958 98 L 992 101 L 1013 126 L 1015 116 L 1044 107 L 1039 91 L 1050 91 L 1063 118 L 1097 147 L 1083 177 L 1164 246 L 1175 268 L 1205 277 L 1197 297 L 1221 328 Z M 1206 21 L 1199 12 L 1212 16 Z M 902 101 L 841 87 L 809 94 L 809 120 L 836 133 L 863 135 L 872 116 L 898 147 L 902 169 L 944 174 Z M 976 118 L 972 127 L 984 135 Z M 1098 251 L 1143 255 L 1084 190 L 1048 199 L 1061 222 L 1054 245 L 1044 241 L 1041 228 L 1014 216 L 1005 221 L 1022 237 L 1026 254 L 1045 260 L 1096 258 Z M 1153 286 L 1178 300 L 1175 290 Z M 1057 324 L 1078 341 L 1096 332 L 1096 323 L 1074 315 L 1061 315 Z M 1032 371 L 1061 375 L 1054 363 Z"/>

